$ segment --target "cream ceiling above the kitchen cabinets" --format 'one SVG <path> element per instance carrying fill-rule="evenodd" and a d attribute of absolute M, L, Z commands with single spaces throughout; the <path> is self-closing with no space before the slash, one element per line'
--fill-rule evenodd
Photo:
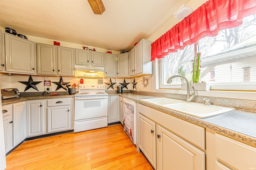
<path fill-rule="evenodd" d="M 130 51 L 189 0 L 102 1 L 106 11 L 96 15 L 87 0 L 0 0 L 0 27 L 34 37 Z"/>

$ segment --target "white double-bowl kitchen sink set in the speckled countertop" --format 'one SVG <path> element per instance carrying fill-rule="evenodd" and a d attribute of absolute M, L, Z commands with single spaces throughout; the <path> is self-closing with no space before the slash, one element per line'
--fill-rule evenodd
<path fill-rule="evenodd" d="M 204 105 L 199 103 L 183 102 L 181 100 L 170 99 L 170 98 L 150 98 L 141 99 L 145 102 L 150 102 L 152 104 L 161 105 L 168 109 L 185 113 L 187 115 L 192 115 L 198 118 L 206 118 L 214 115 L 220 115 L 228 111 L 234 110 L 232 107 L 215 106 L 215 105 Z"/>

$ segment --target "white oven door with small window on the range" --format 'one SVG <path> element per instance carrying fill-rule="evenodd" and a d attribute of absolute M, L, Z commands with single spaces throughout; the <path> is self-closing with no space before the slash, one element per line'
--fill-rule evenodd
<path fill-rule="evenodd" d="M 74 112 L 75 121 L 108 116 L 108 96 L 75 97 Z"/>

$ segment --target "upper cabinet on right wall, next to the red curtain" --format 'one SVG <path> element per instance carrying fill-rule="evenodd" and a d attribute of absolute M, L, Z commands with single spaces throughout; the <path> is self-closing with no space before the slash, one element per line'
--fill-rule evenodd
<path fill-rule="evenodd" d="M 132 66 L 132 61 L 129 61 L 129 75 L 139 75 L 139 74 L 153 74 L 153 64 L 151 60 L 151 44 L 152 41 L 148 41 L 146 39 L 142 39 L 132 50 L 130 53 L 134 55 L 134 59 L 130 57 L 130 60 L 134 61 L 134 65 Z M 133 68 L 133 73 L 132 73 Z"/>

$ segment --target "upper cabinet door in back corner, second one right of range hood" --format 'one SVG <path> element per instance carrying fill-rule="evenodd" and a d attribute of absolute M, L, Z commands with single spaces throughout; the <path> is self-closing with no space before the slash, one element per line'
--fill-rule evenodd
<path fill-rule="evenodd" d="M 117 76 L 128 76 L 128 53 L 117 55 Z"/>

